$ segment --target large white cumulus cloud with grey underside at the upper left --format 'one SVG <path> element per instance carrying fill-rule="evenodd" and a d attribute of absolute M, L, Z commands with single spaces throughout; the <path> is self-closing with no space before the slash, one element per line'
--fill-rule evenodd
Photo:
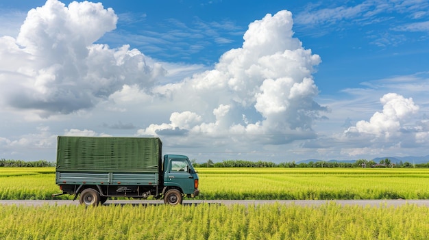
<path fill-rule="evenodd" d="M 48 0 L 30 10 L 16 39 L 0 38 L 0 104 L 47 117 L 93 108 L 124 84 L 153 85 L 165 73 L 160 64 L 128 45 L 94 44 L 117 19 L 88 1 Z"/>

